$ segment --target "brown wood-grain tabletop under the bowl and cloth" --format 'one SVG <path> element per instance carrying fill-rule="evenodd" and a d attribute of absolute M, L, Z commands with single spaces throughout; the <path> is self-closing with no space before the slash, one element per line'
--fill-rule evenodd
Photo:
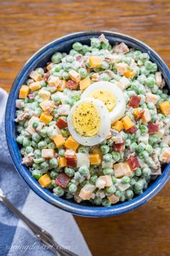
<path fill-rule="evenodd" d="M 170 67 L 169 0 L 0 0 L 0 8 L 0 86 L 7 91 L 38 48 L 81 30 L 133 35 Z M 94 256 L 170 255 L 170 182 L 146 205 L 125 215 L 75 218 Z"/>

